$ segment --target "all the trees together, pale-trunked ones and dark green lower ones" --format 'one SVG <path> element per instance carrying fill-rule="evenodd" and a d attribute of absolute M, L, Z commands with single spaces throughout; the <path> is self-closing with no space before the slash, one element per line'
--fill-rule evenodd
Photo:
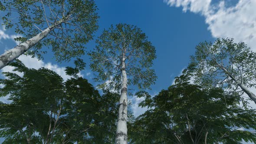
<path fill-rule="evenodd" d="M 233 39 L 217 39 L 196 46 L 191 62 L 175 84 L 158 95 L 146 91 L 141 107 L 148 111 L 134 118 L 127 95 L 131 88 L 147 90 L 157 76 L 151 69 L 156 50 L 140 28 L 125 23 L 110 26 L 90 52 L 85 44 L 98 29 L 93 0 L 2 0 L 3 24 L 23 37 L 0 56 L 3 72 L 0 97 L 0 137 L 4 144 L 239 144 L 256 142 L 256 53 Z M 18 19 L 15 19 L 18 17 Z M 99 93 L 78 73 L 82 59 L 66 67 L 71 78 L 46 68 L 29 69 L 22 54 L 43 58 L 52 49 L 58 62 L 85 52 Z M 108 83 L 106 83 L 108 81 Z M 116 93 L 115 93 L 116 92 Z M 252 131 L 250 131 L 250 130 Z"/>

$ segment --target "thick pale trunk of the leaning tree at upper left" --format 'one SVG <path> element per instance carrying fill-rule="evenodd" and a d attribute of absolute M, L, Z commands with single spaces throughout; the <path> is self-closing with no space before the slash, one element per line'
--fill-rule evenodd
<path fill-rule="evenodd" d="M 31 47 L 35 46 L 36 43 L 45 38 L 54 29 L 54 27 L 58 26 L 62 22 L 63 21 L 59 21 L 59 23 L 57 23 L 56 25 L 49 26 L 48 28 L 43 30 L 42 33 L 39 33 L 31 39 L 27 40 L 26 42 L 21 43 L 18 46 L 15 46 L 13 49 L 4 52 L 0 56 L 0 69 L 8 65 L 14 59 L 17 59 L 20 55 L 29 50 Z"/>

